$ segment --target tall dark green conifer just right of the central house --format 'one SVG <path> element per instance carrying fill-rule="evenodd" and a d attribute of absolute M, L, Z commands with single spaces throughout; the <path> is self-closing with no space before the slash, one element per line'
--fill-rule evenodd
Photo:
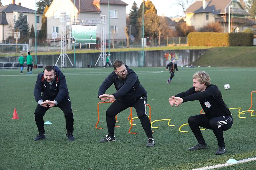
<path fill-rule="evenodd" d="M 131 27 L 131 34 L 134 36 L 134 37 L 137 37 L 138 36 L 138 33 L 139 33 L 139 27 L 137 25 L 137 21 L 138 21 L 138 7 L 137 7 L 137 4 L 136 2 L 134 1 L 133 4 L 132 4 L 132 10 L 130 10 L 130 14 L 129 14 L 129 21 L 130 21 L 130 24 L 132 25 Z"/>

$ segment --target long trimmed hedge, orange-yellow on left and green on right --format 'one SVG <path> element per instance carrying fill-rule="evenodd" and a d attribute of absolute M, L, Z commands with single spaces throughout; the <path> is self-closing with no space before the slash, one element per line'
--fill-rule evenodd
<path fill-rule="evenodd" d="M 253 34 L 220 33 L 220 32 L 190 32 L 189 46 L 253 46 Z"/>

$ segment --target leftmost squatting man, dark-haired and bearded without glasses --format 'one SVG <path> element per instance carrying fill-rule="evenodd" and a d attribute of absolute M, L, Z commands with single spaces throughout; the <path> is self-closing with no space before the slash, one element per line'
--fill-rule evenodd
<path fill-rule="evenodd" d="M 43 95 L 41 96 L 41 93 Z M 39 134 L 34 140 L 45 139 L 44 114 L 51 107 L 60 108 L 66 119 L 67 138 L 75 140 L 72 133 L 74 130 L 74 118 L 71 109 L 71 101 L 68 96 L 68 88 L 65 75 L 57 66 L 46 66 L 42 73 L 37 75 L 34 96 L 38 103 L 35 110 L 36 126 Z"/>

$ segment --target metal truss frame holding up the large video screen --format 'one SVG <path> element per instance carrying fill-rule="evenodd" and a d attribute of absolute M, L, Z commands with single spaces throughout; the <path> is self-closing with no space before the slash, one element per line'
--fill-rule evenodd
<path fill-rule="evenodd" d="M 66 12 L 61 12 L 61 54 L 58 60 L 61 57 L 61 67 L 67 67 L 67 22 L 69 25 L 100 25 L 101 29 L 101 53 L 100 56 L 95 64 L 97 65 L 99 59 L 101 58 L 100 66 L 105 66 L 106 63 L 106 15 L 101 15 L 100 19 L 71 19 L 66 17 Z M 56 61 L 55 65 L 57 64 L 58 60 Z M 73 66 L 71 60 L 68 57 L 71 65 Z"/>

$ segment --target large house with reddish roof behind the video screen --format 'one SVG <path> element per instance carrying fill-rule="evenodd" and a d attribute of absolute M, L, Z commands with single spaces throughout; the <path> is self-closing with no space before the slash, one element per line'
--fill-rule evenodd
<path fill-rule="evenodd" d="M 67 28 L 69 24 L 81 23 L 70 23 L 69 20 L 100 20 L 101 15 L 106 15 L 106 38 L 108 39 L 108 32 L 110 32 L 110 39 L 118 42 L 118 40 L 125 40 L 125 27 L 126 27 L 126 3 L 121 0 L 109 0 L 109 11 L 108 11 L 108 0 L 53 0 L 45 16 L 47 17 L 47 40 L 53 41 L 52 32 L 57 32 L 57 38 L 61 39 L 61 13 L 66 13 Z M 109 15 L 108 15 L 109 14 Z M 108 17 L 110 18 L 108 20 Z M 110 21 L 110 27 L 109 25 Z M 100 24 L 85 24 L 97 26 L 97 39 L 101 37 L 101 25 Z M 70 46 L 71 37 L 67 31 L 67 41 Z"/>

